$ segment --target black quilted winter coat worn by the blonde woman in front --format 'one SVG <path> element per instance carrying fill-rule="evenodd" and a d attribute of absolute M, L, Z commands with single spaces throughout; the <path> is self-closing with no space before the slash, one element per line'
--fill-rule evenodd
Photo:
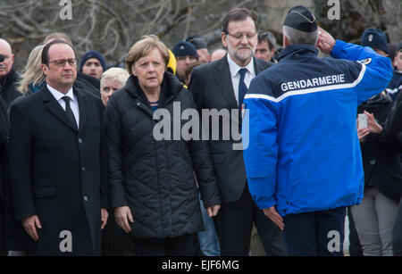
<path fill-rule="evenodd" d="M 191 93 L 165 72 L 159 108 L 173 117 L 197 109 Z M 105 110 L 110 205 L 130 206 L 136 238 L 169 238 L 194 234 L 203 228 L 198 188 L 205 208 L 221 203 L 214 169 L 204 141 L 155 140 L 153 109 L 130 76 Z M 181 115 L 180 115 L 181 117 Z M 188 120 L 181 120 L 181 129 Z M 170 121 L 173 126 L 173 119 Z M 173 132 L 173 131 L 172 131 Z M 172 138 L 171 138 L 172 139 Z"/>

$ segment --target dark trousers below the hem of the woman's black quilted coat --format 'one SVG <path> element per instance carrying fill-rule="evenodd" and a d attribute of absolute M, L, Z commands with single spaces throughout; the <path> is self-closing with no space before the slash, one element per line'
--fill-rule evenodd
<path fill-rule="evenodd" d="M 137 256 L 194 256 L 196 234 L 164 238 L 136 239 Z"/>

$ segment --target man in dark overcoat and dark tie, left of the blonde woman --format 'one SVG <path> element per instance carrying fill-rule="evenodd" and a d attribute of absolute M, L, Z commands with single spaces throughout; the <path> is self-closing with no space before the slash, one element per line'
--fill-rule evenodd
<path fill-rule="evenodd" d="M 69 44 L 47 44 L 46 87 L 10 112 L 11 189 L 16 218 L 30 237 L 28 255 L 100 254 L 107 220 L 105 107 L 73 87 L 76 66 Z"/>

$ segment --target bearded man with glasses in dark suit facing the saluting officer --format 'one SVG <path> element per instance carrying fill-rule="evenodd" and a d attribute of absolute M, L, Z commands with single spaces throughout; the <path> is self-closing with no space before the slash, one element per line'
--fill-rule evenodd
<path fill-rule="evenodd" d="M 202 109 L 225 111 L 241 110 L 243 98 L 251 79 L 272 63 L 258 60 L 255 54 L 257 44 L 257 15 L 247 9 L 233 9 L 223 20 L 222 44 L 228 54 L 221 60 L 207 63 L 194 69 L 189 83 L 197 103 Z M 211 124 L 211 123 L 210 123 Z M 241 116 L 230 117 L 229 125 L 241 129 Z M 228 125 L 221 124 L 222 135 Z M 213 127 L 210 127 L 209 134 Z M 233 131 L 233 130 L 232 130 Z M 214 170 L 219 178 L 222 207 L 215 225 L 222 255 L 248 255 L 253 222 L 262 239 L 267 254 L 284 254 L 283 240 L 279 228 L 264 216 L 248 192 L 243 152 L 234 150 L 236 143 L 230 140 L 209 140 Z M 238 141 L 239 143 L 239 141 Z M 237 144 L 240 145 L 240 144 Z"/>

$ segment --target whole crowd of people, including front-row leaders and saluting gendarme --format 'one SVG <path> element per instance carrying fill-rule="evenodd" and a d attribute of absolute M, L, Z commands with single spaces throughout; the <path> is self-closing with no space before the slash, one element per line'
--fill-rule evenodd
<path fill-rule="evenodd" d="M 57 32 L 17 72 L 0 38 L 0 254 L 343 255 L 348 215 L 351 255 L 402 255 L 402 44 L 257 20 L 230 10 L 211 54 L 141 37 L 126 69 Z M 238 114 L 188 138 L 188 110 Z"/>

